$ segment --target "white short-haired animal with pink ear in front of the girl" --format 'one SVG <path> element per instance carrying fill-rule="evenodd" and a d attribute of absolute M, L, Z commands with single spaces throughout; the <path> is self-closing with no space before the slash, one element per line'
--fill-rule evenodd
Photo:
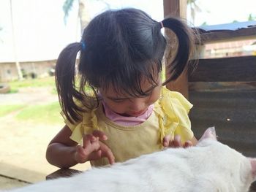
<path fill-rule="evenodd" d="M 196 147 L 168 148 L 121 164 L 94 168 L 69 178 L 12 190 L 111 192 L 246 192 L 256 178 L 256 158 L 217 142 L 208 128 Z"/>

